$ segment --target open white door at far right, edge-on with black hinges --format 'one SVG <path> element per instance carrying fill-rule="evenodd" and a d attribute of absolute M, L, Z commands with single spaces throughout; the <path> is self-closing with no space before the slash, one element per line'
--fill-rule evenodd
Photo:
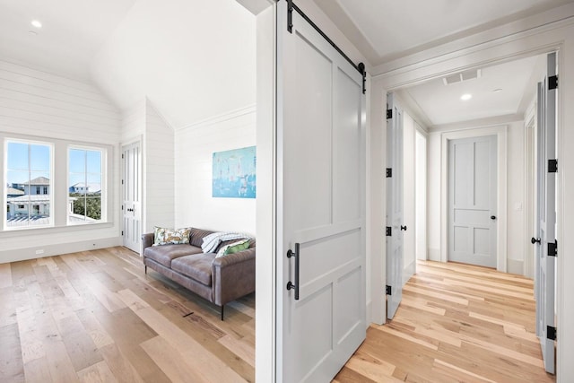
<path fill-rule="evenodd" d="M 554 289 L 556 260 L 556 89 L 552 78 L 556 75 L 556 53 L 548 55 L 548 75 L 538 85 L 537 162 L 537 229 L 536 246 L 536 335 L 540 339 L 544 368 L 554 373 Z"/>

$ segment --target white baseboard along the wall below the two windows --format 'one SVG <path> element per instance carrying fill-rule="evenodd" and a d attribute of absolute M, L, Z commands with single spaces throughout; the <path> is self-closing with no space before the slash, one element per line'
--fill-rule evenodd
<path fill-rule="evenodd" d="M 56 245 L 41 246 L 40 248 L 38 245 L 36 245 L 33 248 L 18 248 L 13 250 L 0 251 L 0 263 L 60 256 L 63 254 L 77 253 L 79 251 L 95 250 L 98 248 L 113 248 L 114 246 L 121 245 L 121 237 L 91 239 L 70 243 L 58 243 Z M 41 252 L 39 253 L 39 251 Z"/>

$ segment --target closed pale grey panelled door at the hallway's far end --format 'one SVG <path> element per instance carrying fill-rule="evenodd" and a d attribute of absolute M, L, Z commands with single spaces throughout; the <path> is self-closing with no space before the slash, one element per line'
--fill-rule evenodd
<path fill-rule="evenodd" d="M 496 267 L 496 135 L 448 142 L 448 260 Z"/>

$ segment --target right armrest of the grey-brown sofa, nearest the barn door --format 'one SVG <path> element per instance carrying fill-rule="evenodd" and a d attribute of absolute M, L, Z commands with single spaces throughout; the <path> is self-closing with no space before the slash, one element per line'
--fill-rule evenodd
<path fill-rule="evenodd" d="M 213 302 L 224 305 L 255 292 L 256 248 L 213 259 Z"/>

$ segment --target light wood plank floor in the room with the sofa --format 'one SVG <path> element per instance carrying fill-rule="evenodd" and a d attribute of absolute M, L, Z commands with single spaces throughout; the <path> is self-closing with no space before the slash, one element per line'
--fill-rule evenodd
<path fill-rule="evenodd" d="M 0 265 L 0 382 L 253 382 L 255 295 L 219 308 L 126 248 Z"/>

